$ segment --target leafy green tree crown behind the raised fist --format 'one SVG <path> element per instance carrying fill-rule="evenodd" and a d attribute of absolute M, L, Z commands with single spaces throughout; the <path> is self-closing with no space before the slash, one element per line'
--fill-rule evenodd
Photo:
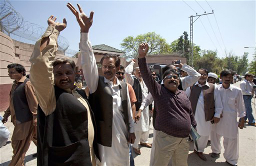
<path fill-rule="evenodd" d="M 128 36 L 123 39 L 121 47 L 124 49 L 126 58 L 135 58 L 138 55 L 138 47 L 142 42 L 148 43 L 149 51 L 148 54 L 167 54 L 171 53 L 171 47 L 166 42 L 166 39 L 162 38 L 155 32 L 148 32 L 146 34 L 140 34 L 136 37 Z"/>

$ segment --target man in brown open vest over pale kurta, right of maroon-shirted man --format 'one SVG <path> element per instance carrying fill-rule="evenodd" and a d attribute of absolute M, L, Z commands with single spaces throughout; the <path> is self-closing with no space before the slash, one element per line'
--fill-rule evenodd
<path fill-rule="evenodd" d="M 208 71 L 199 69 L 198 73 L 202 76 L 191 88 L 187 88 L 186 93 L 197 123 L 197 132 L 201 136 L 198 140 L 198 149 L 194 145 L 194 152 L 206 161 L 203 155 L 204 148 L 212 131 L 212 123 L 219 122 L 223 106 L 217 85 L 207 82 Z"/>

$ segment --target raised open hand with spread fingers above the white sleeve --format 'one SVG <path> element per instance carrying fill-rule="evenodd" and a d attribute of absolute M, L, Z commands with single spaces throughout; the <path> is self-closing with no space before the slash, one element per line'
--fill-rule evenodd
<path fill-rule="evenodd" d="M 72 13 L 77 18 L 77 23 L 79 24 L 81 28 L 81 32 L 89 32 L 90 26 L 92 26 L 92 19 L 94 12 L 90 12 L 90 17 L 87 17 L 87 15 L 83 12 L 83 9 L 79 4 L 77 4 L 78 9 L 80 13 L 75 9 L 75 7 L 71 3 L 67 3 L 67 7 L 72 11 Z"/>

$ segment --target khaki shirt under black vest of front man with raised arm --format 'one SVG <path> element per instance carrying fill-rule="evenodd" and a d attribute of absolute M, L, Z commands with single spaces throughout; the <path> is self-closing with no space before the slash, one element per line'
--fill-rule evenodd
<path fill-rule="evenodd" d="M 45 113 L 46 116 L 52 114 L 56 108 L 54 74 L 52 64 L 58 51 L 58 36 L 59 31 L 53 27 L 48 26 L 46 32 L 36 42 L 34 51 L 29 60 L 32 63 L 30 69 L 31 82 L 35 87 L 38 104 L 42 108 L 42 111 Z M 45 37 L 49 37 L 50 42 L 42 51 L 40 51 L 41 41 Z M 89 111 L 89 106 L 84 98 L 77 91 L 75 91 L 76 89 L 65 90 L 73 94 L 73 96 L 75 96 L 77 100 L 79 100 L 88 110 L 88 140 L 90 146 L 91 161 L 92 165 L 96 165 L 93 149 L 94 128 Z"/>

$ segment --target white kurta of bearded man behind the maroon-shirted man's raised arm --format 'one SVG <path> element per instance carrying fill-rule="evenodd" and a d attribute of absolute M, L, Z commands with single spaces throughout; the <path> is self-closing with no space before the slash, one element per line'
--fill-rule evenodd
<path fill-rule="evenodd" d="M 125 81 L 129 84 L 131 84 L 133 86 L 134 83 L 134 78 L 131 73 L 133 72 L 133 65 L 135 64 L 135 62 L 131 62 L 126 68 L 125 68 Z M 138 80 L 139 81 L 139 80 Z M 142 92 L 142 101 L 146 98 L 146 96 L 148 95 L 148 88 L 146 87 L 146 84 L 144 83 L 144 81 L 139 81 L 140 85 L 141 85 L 141 92 Z M 137 99 L 138 100 L 138 99 Z M 136 113 L 138 113 L 136 111 Z M 142 109 L 142 113 L 141 113 L 141 118 L 140 120 L 134 124 L 134 128 L 137 131 L 142 131 L 142 132 L 146 132 L 149 130 L 149 110 L 148 110 L 148 106 L 144 107 Z"/>

